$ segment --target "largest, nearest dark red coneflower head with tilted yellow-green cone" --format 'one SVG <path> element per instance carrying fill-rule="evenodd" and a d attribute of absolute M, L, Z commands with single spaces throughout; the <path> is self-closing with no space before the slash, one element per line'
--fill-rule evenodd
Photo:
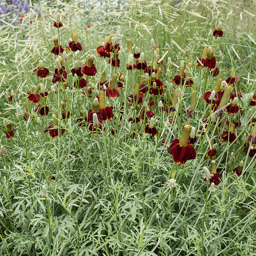
<path fill-rule="evenodd" d="M 186 124 L 180 140 L 173 140 L 171 146 L 167 149 L 176 164 L 185 164 L 186 161 L 196 158 L 195 148 L 188 142 L 190 130 L 190 125 Z"/>

